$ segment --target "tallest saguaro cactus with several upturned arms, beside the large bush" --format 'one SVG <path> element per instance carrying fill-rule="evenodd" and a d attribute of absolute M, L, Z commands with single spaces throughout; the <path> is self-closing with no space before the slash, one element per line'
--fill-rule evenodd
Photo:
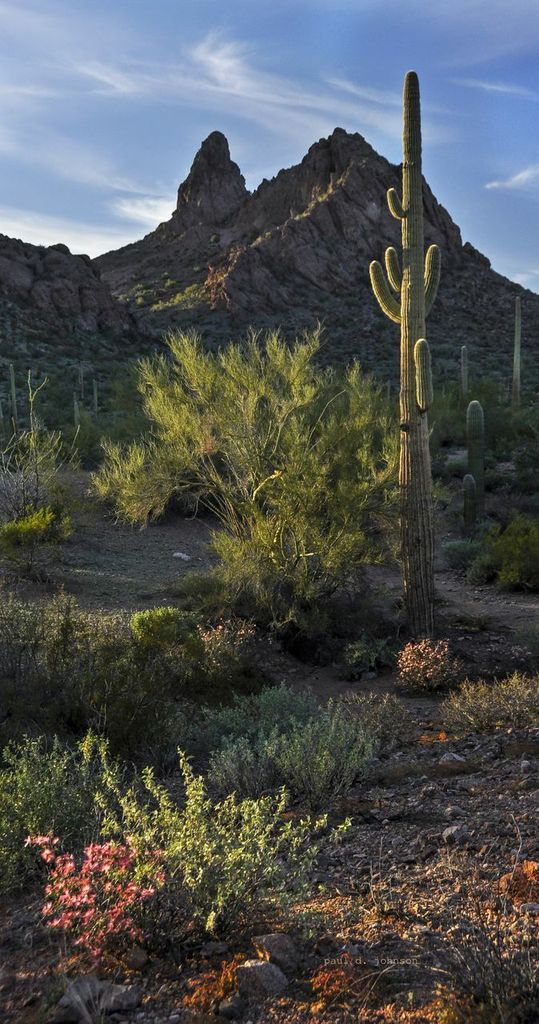
<path fill-rule="evenodd" d="M 401 546 L 408 625 L 415 636 L 433 632 L 432 478 L 427 410 L 432 399 L 430 352 L 425 316 L 436 299 L 441 256 L 438 246 L 424 255 L 423 178 L 419 82 L 408 72 L 404 84 L 403 198 L 395 188 L 387 206 L 401 221 L 402 268 L 397 251 L 385 251 L 387 280 L 377 260 L 371 284 L 382 311 L 401 325 Z M 389 287 L 390 286 L 390 287 Z"/>

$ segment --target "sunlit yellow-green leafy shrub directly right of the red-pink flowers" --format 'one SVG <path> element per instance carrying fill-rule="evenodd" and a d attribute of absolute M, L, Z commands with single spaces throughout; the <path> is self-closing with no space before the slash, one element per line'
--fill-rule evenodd
<path fill-rule="evenodd" d="M 185 933 L 227 936 L 282 908 L 304 892 L 319 849 L 322 821 L 285 821 L 284 793 L 259 800 L 235 795 L 213 801 L 180 755 L 184 798 L 176 803 L 150 770 L 146 796 L 114 794 L 119 812 L 108 835 L 128 838 L 146 857 L 161 851 L 165 879 L 148 921 L 154 941 L 174 944 Z"/>

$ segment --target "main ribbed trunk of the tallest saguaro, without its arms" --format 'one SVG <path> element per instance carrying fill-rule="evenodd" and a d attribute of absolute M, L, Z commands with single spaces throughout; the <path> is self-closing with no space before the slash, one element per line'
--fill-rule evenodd
<path fill-rule="evenodd" d="M 414 347 L 425 335 L 423 180 L 419 83 L 404 88 L 403 283 L 401 288 L 401 544 L 408 625 L 417 636 L 433 632 L 433 521 L 426 411 L 416 401 Z"/>

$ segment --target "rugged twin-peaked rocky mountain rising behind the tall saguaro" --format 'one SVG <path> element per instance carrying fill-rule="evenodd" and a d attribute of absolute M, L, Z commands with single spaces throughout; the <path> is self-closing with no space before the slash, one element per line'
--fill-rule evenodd
<path fill-rule="evenodd" d="M 113 294 L 146 333 L 196 326 L 209 344 L 247 325 L 287 333 L 326 326 L 326 357 L 360 355 L 395 376 L 398 329 L 371 294 L 368 266 L 400 244 L 385 193 L 400 168 L 359 134 L 336 128 L 300 164 L 252 194 L 212 132 L 178 191 L 169 221 L 95 263 Z M 439 372 L 453 368 L 465 342 L 484 372 L 509 373 L 514 295 L 523 296 L 530 344 L 539 336 L 539 296 L 495 273 L 424 185 L 425 244 L 443 254 L 442 286 L 428 322 Z M 535 348 L 535 358 L 538 351 Z M 501 364 L 500 364 L 501 360 Z M 507 364 L 507 366 L 505 366 Z"/>

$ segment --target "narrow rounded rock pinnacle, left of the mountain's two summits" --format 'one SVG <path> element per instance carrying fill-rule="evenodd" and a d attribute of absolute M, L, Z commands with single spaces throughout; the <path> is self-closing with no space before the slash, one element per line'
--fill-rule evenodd
<path fill-rule="evenodd" d="M 173 227 L 184 231 L 200 223 L 221 224 L 239 210 L 248 196 L 245 178 L 238 164 L 231 160 L 225 136 L 212 131 L 178 188 Z"/>

